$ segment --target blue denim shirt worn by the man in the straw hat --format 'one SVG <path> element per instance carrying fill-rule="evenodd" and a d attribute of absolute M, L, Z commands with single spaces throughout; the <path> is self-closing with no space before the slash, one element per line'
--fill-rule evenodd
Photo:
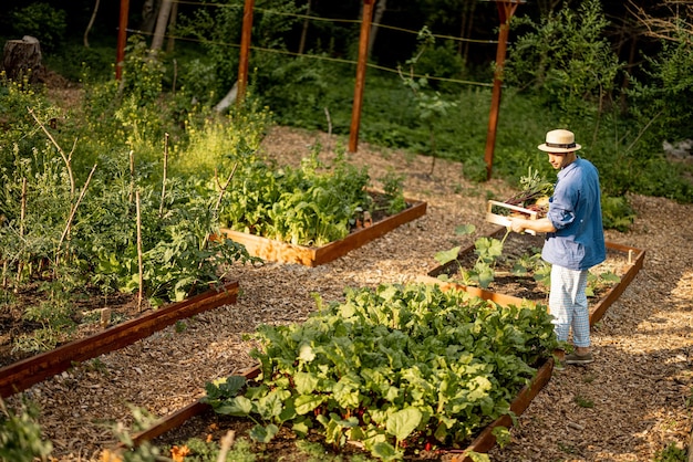
<path fill-rule="evenodd" d="M 546 234 L 541 258 L 569 270 L 589 270 L 607 259 L 597 168 L 582 158 L 558 172 L 548 219 L 556 232 Z"/>

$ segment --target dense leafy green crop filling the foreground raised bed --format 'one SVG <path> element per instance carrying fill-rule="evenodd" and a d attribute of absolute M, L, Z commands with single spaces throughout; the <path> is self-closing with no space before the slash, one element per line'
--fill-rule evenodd
<path fill-rule="evenodd" d="M 374 456 L 458 445 L 508 411 L 511 397 L 556 346 L 550 317 L 528 304 L 499 308 L 462 291 L 381 285 L 349 291 L 306 323 L 261 326 L 261 378 L 207 385 L 221 414 L 320 430 L 334 447 L 362 441 Z M 406 443 L 406 444 L 405 444 Z"/>

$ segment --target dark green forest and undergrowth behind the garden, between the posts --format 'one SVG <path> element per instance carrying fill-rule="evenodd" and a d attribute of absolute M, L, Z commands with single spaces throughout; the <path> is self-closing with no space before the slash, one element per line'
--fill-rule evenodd
<path fill-rule="evenodd" d="M 180 118 L 215 107 L 236 82 L 244 4 L 170 4 L 166 42 L 156 45 L 162 2 L 130 2 L 123 87 L 138 95 L 139 107 L 166 95 L 176 106 L 168 114 Z M 120 7 L 114 0 L 8 0 L 0 31 L 6 40 L 37 36 L 46 67 L 89 93 L 89 85 L 114 78 Z M 269 108 L 277 124 L 349 133 L 362 7 L 257 1 L 256 107 Z M 691 8 L 668 0 L 520 3 L 503 74 L 495 175 L 517 181 L 528 166 L 548 175 L 534 148 L 560 126 L 576 132 L 608 196 L 635 191 L 690 201 L 690 166 L 678 160 L 690 157 L 693 138 Z M 455 159 L 466 177 L 483 180 L 497 2 L 379 0 L 373 22 L 360 139 Z M 161 48 L 156 65 L 143 52 L 152 48 Z M 105 111 L 94 99 L 90 106 Z M 159 119 L 163 114 L 156 112 Z M 155 125 L 173 132 L 177 122 Z M 162 133 L 149 135 L 161 145 Z"/>

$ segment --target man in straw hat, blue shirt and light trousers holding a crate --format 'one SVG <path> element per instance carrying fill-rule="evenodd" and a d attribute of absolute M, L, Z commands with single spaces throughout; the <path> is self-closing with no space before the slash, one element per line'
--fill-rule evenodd
<path fill-rule="evenodd" d="M 572 132 L 551 130 L 538 148 L 549 156 L 558 171 L 546 218 L 511 219 L 515 232 L 534 230 L 546 233 L 541 258 L 551 263 L 549 311 L 556 336 L 568 342 L 572 328 L 575 351 L 560 358 L 565 364 L 585 365 L 594 359 L 590 349 L 587 303 L 588 270 L 607 258 L 601 222 L 599 172 L 588 160 L 578 157 L 581 148 Z M 559 355 L 562 356 L 562 355 Z"/>

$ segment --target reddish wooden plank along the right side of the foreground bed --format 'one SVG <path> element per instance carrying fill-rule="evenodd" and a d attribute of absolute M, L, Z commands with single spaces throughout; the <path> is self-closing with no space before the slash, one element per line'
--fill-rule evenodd
<path fill-rule="evenodd" d="M 539 391 L 544 389 L 544 387 L 551 379 L 551 375 L 554 371 L 554 358 L 547 359 L 547 361 L 537 370 L 537 375 L 531 380 L 531 382 L 524 387 L 519 395 L 513 400 L 510 403 L 510 411 L 515 413 L 517 417 L 521 416 L 525 410 L 529 407 L 531 401 L 539 395 Z M 447 451 L 449 454 L 454 454 L 451 459 L 451 462 L 472 462 L 472 458 L 467 454 L 472 451 L 478 453 L 488 452 L 496 444 L 496 437 L 493 434 L 493 431 L 496 427 L 513 427 L 513 419 L 510 416 L 501 416 L 496 419 L 493 423 L 486 427 L 478 437 L 472 441 L 464 450 L 452 450 Z"/>

